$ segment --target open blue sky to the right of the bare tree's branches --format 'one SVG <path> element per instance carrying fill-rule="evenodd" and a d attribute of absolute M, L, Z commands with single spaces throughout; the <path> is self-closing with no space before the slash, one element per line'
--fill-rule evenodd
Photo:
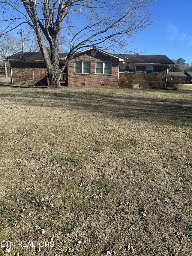
<path fill-rule="evenodd" d="M 192 0 L 164 0 L 152 6 L 160 19 L 134 40 L 141 54 L 167 55 L 192 62 Z"/>

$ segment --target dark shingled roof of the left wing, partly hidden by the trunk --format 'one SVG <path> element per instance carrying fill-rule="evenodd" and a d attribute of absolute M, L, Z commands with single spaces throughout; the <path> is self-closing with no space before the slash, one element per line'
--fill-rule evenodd
<path fill-rule="evenodd" d="M 59 57 L 66 57 L 67 53 L 59 53 Z M 7 58 L 6 60 L 15 61 L 44 61 L 42 53 L 15 53 Z"/>

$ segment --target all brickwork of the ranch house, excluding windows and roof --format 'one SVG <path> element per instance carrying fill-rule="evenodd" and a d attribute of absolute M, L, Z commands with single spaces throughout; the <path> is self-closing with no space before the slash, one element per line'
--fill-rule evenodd
<path fill-rule="evenodd" d="M 75 74 L 75 61 L 91 62 L 90 74 Z M 96 62 L 112 62 L 112 74 L 95 74 Z M 13 83 L 33 85 L 33 70 L 35 85 L 47 85 L 47 70 L 44 63 L 35 62 L 11 62 Z M 162 88 L 165 86 L 167 67 L 154 66 L 152 74 L 145 74 L 146 66 L 136 66 L 135 74 L 128 73 L 129 66 L 125 67 L 125 73 L 119 73 L 119 62 L 112 56 L 96 52 L 91 56 L 91 50 L 75 56 L 68 63 L 68 86 L 69 87 L 98 87 L 115 88 L 119 87 L 133 88 L 134 84 L 139 84 L 140 88 Z M 85 84 L 85 85 L 82 85 Z M 101 86 L 104 84 L 104 86 Z"/>

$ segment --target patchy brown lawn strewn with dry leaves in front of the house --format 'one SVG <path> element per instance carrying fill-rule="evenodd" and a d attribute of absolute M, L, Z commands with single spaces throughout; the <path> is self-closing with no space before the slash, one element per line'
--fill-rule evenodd
<path fill-rule="evenodd" d="M 0 86 L 0 241 L 54 237 L 8 255 L 192 255 L 191 100 Z"/>

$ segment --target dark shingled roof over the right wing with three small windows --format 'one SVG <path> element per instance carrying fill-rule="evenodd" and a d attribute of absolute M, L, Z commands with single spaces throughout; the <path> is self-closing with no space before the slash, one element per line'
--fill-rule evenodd
<path fill-rule="evenodd" d="M 118 58 L 124 59 L 128 64 L 166 64 L 175 65 L 166 55 L 141 55 L 141 54 L 114 54 Z"/>

